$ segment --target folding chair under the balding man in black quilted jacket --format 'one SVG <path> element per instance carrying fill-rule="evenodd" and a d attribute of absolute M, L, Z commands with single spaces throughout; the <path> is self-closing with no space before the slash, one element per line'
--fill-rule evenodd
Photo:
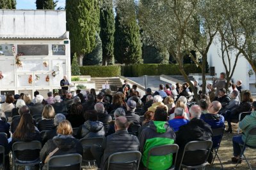
<path fill-rule="evenodd" d="M 137 170 L 139 169 L 141 153 L 138 151 L 131 152 L 116 152 L 112 153 L 108 158 L 108 169 L 111 169 L 110 164 L 129 164 L 136 162 Z"/>

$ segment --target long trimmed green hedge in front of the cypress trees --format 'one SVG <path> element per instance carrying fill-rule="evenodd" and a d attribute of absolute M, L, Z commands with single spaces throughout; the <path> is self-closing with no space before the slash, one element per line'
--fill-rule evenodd
<path fill-rule="evenodd" d="M 184 64 L 184 70 L 189 73 L 201 73 L 200 67 L 195 64 Z M 90 75 L 92 77 L 111 77 L 111 76 L 157 76 L 180 75 L 177 64 L 134 64 L 129 66 L 82 66 L 81 75 Z"/>

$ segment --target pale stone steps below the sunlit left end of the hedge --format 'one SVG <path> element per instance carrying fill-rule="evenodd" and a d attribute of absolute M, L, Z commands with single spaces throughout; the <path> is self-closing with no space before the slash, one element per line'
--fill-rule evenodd
<path fill-rule="evenodd" d="M 122 82 L 120 81 L 120 78 L 105 78 L 105 77 L 94 77 L 91 78 L 91 81 L 95 82 L 95 90 L 102 90 L 102 85 L 108 84 L 110 85 L 110 89 L 113 92 L 116 92 L 119 87 L 122 87 Z"/>

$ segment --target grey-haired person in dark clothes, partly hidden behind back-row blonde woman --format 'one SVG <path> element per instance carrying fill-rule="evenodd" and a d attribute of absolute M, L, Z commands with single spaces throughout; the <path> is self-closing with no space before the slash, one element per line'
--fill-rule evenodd
<path fill-rule="evenodd" d="M 47 131 L 42 136 L 42 146 L 49 140 L 52 139 L 54 136 L 57 136 L 57 127 L 62 120 L 66 120 L 65 115 L 58 113 L 54 117 L 54 127 L 50 131 Z"/>

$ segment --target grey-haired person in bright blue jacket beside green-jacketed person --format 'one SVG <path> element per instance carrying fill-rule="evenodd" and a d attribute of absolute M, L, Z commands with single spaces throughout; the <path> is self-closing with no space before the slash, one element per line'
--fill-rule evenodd
<path fill-rule="evenodd" d="M 170 127 L 173 128 L 174 132 L 179 131 L 179 127 L 188 124 L 189 120 L 184 115 L 184 110 L 182 108 L 176 108 L 174 110 L 175 117 L 169 120 L 168 123 Z"/>

